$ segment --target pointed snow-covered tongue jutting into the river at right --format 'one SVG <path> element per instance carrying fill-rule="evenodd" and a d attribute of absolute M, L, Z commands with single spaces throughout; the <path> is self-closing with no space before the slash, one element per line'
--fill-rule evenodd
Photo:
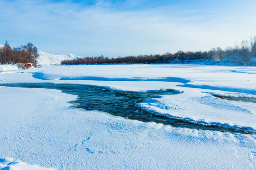
<path fill-rule="evenodd" d="M 246 105 L 238 103 L 246 103 Z M 163 98 L 150 99 L 137 103 L 136 106 L 155 114 L 199 124 L 256 130 L 255 103 L 230 102 L 196 90 L 187 90 L 176 95 L 163 95 Z"/>

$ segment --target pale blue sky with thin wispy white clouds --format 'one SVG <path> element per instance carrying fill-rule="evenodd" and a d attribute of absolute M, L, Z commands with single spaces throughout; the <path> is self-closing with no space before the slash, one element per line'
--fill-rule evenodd
<path fill-rule="evenodd" d="M 0 44 L 82 57 L 225 49 L 256 35 L 256 0 L 0 0 Z"/>

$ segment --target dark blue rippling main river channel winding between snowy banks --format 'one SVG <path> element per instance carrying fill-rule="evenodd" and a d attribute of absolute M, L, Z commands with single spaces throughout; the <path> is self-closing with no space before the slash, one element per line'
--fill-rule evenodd
<path fill-rule="evenodd" d="M 85 110 L 100 110 L 108 112 L 115 116 L 121 116 L 126 119 L 135 119 L 143 122 L 156 122 L 173 127 L 187 127 L 201 130 L 217 130 L 230 133 L 256 133 L 250 129 L 232 129 L 221 126 L 205 126 L 191 123 L 185 120 L 172 119 L 162 115 L 155 115 L 146 110 L 139 109 L 134 105 L 157 95 L 175 95 L 177 94 L 171 89 L 164 91 L 146 91 L 131 92 L 112 90 L 109 87 L 95 85 L 76 85 L 76 84 L 53 84 L 53 83 L 16 83 L 16 84 L 0 84 L 10 87 L 26 87 L 26 88 L 47 88 L 62 90 L 64 93 L 78 95 L 76 103 L 80 103 L 77 107 Z M 85 112 L 86 113 L 86 112 Z"/>

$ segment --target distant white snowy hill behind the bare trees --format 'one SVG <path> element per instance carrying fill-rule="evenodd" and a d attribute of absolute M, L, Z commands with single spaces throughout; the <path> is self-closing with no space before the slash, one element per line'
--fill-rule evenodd
<path fill-rule="evenodd" d="M 37 58 L 37 62 L 38 64 L 41 64 L 41 65 L 60 64 L 61 61 L 65 59 L 82 58 L 74 54 L 55 55 L 55 54 L 48 54 L 40 50 L 38 50 L 38 54 L 39 54 L 39 57 Z"/>

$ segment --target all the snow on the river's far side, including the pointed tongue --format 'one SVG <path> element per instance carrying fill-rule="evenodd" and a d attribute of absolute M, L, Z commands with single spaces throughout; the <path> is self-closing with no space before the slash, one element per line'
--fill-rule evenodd
<path fill-rule="evenodd" d="M 155 114 L 205 125 L 256 130 L 256 113 L 253 109 L 255 103 L 250 103 L 250 109 L 247 109 L 210 94 L 256 97 L 254 67 L 82 65 L 45 66 L 24 73 L 14 74 L 13 79 L 8 75 L 3 76 L 6 78 L 2 81 L 0 79 L 0 82 L 91 84 L 132 91 L 169 88 L 183 93 L 165 95 L 163 98 L 151 99 L 137 106 L 154 111 Z"/>

